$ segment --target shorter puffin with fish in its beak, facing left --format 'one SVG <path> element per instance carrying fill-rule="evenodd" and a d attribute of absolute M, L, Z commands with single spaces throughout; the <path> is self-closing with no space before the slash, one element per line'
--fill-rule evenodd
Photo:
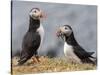
<path fill-rule="evenodd" d="M 60 26 L 56 35 L 64 41 L 64 55 L 66 59 L 75 60 L 77 63 L 96 64 L 96 58 L 92 56 L 94 52 L 87 52 L 78 44 L 70 25 Z"/>

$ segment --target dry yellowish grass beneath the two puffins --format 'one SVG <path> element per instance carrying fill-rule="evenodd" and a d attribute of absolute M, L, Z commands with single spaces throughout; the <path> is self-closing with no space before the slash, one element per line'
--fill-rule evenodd
<path fill-rule="evenodd" d="M 13 74 L 66 72 L 96 69 L 96 65 L 69 63 L 65 59 L 61 58 L 40 57 L 39 63 L 33 63 L 32 60 L 29 60 L 23 66 L 15 66 L 17 64 L 17 60 L 18 58 L 13 58 Z"/>

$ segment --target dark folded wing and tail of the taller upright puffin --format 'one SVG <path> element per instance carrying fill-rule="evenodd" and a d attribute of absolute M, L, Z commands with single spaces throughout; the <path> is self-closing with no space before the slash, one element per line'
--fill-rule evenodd
<path fill-rule="evenodd" d="M 22 43 L 22 51 L 20 55 L 19 65 L 25 63 L 33 55 L 37 54 L 37 49 L 40 46 L 40 35 L 38 33 L 27 32 Z"/>

